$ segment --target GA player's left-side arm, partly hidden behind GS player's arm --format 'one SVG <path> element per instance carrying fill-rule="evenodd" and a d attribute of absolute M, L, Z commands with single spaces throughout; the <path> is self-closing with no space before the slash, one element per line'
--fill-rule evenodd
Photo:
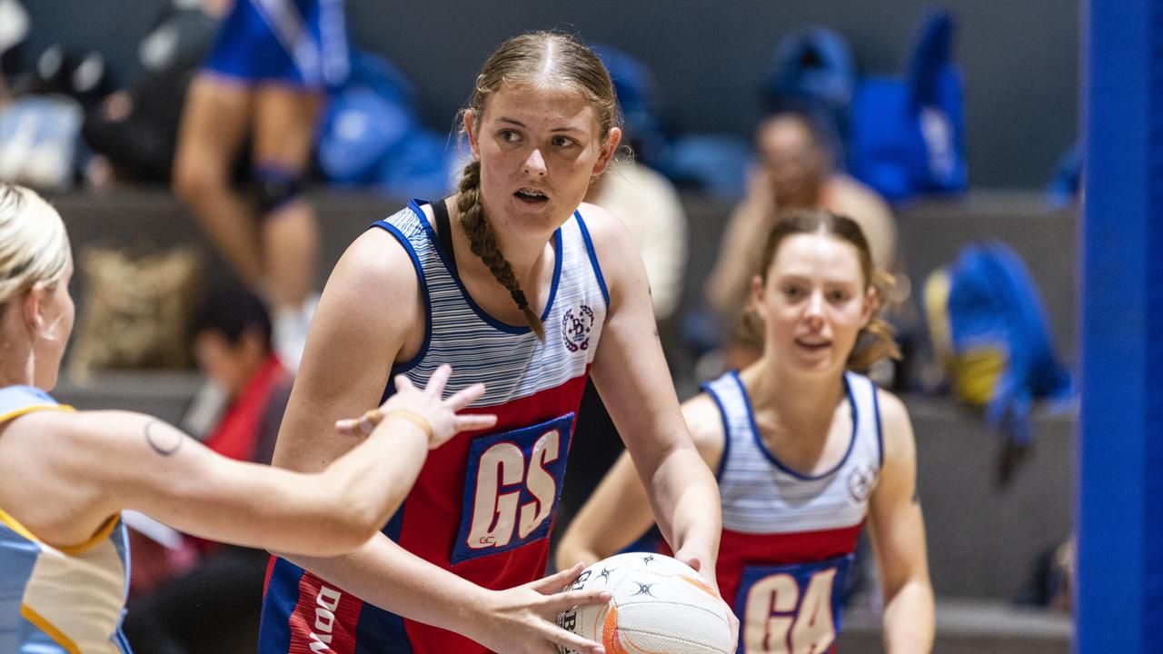
<path fill-rule="evenodd" d="M 719 408 L 706 394 L 683 404 L 683 419 L 699 455 L 714 469 L 722 456 L 723 428 Z M 557 567 L 580 561 L 590 566 L 621 552 L 654 525 L 654 512 L 634 462 L 622 453 L 593 495 L 570 521 L 557 545 Z"/>

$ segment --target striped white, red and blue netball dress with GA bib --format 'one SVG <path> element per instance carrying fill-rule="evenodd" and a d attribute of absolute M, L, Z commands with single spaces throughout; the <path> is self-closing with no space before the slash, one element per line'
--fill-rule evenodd
<path fill-rule="evenodd" d="M 847 372 L 852 435 L 821 475 L 792 470 L 766 448 L 739 375 L 704 389 L 726 439 L 719 468 L 723 533 L 719 590 L 740 619 L 740 653 L 832 652 L 844 578 L 883 465 L 876 385 Z"/>

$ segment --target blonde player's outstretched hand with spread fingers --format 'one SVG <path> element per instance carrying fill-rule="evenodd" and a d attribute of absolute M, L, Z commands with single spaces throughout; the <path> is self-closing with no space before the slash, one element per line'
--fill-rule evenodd
<path fill-rule="evenodd" d="M 423 390 L 416 389 L 406 376 L 397 375 L 397 392 L 387 401 L 359 418 L 338 420 L 335 422 L 335 429 L 347 435 L 371 435 L 377 425 L 395 412 L 421 428 L 427 422 L 428 449 L 435 449 L 459 432 L 485 429 L 495 425 L 497 417 L 492 414 L 457 413 L 484 394 L 484 384 L 473 384 L 442 399 L 444 386 L 451 375 L 450 367 L 441 365 L 433 372 Z"/>

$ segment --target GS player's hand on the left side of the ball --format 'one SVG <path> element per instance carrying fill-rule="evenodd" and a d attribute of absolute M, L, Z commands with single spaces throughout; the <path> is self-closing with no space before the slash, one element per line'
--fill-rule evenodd
<path fill-rule="evenodd" d="M 586 654 L 605 654 L 600 644 L 557 626 L 557 616 L 582 604 L 605 604 L 606 590 L 562 590 L 582 574 L 580 563 L 557 574 L 507 590 L 488 591 L 485 618 L 475 621 L 470 638 L 493 652 L 506 654 L 558 654 L 564 647 Z"/>

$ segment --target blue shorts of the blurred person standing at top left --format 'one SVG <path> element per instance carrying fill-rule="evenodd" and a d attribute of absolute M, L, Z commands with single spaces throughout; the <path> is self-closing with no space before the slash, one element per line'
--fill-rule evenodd
<path fill-rule="evenodd" d="M 204 69 L 237 81 L 334 87 L 348 77 L 343 0 L 234 0 Z"/>

